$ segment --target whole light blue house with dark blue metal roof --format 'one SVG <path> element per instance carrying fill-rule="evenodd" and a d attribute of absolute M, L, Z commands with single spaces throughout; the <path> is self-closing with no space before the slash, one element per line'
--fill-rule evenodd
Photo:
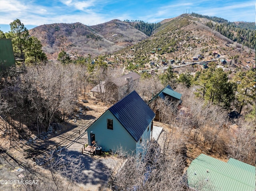
<path fill-rule="evenodd" d="M 140 153 L 141 144 L 150 141 L 155 113 L 132 91 L 108 108 L 88 129 L 88 144 L 102 151 L 122 148 L 128 154 Z"/>

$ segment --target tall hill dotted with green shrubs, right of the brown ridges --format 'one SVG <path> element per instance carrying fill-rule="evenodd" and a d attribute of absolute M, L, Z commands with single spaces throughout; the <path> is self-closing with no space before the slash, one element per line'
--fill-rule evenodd
<path fill-rule="evenodd" d="M 243 47 L 214 28 L 206 26 L 209 22 L 212 21 L 208 18 L 195 17 L 190 14 L 164 20 L 152 36 L 132 47 L 118 51 L 116 56 L 124 61 L 129 70 L 154 68 L 149 63 L 160 64 L 161 60 L 167 63 L 170 63 L 172 59 L 176 63 L 190 62 L 192 57 L 198 57 L 198 55 L 204 57 L 202 60 L 209 61 L 214 59 L 213 52 L 218 54 L 217 59 L 231 60 L 232 63 L 241 66 L 255 63 L 253 49 Z M 214 24 L 220 26 L 217 22 Z"/>

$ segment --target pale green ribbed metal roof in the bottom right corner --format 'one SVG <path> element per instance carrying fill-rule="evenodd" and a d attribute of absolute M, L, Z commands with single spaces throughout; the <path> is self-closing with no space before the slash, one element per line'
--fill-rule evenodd
<path fill-rule="evenodd" d="M 188 187 L 200 191 L 255 191 L 255 166 L 230 158 L 223 162 L 205 154 L 187 170 Z"/>

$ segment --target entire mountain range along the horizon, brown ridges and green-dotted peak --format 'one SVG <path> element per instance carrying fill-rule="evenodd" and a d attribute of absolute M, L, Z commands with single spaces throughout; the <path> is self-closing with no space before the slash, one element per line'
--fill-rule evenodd
<path fill-rule="evenodd" d="M 128 20 L 112 20 L 95 26 L 61 23 L 38 26 L 29 32 L 41 41 L 48 59 L 57 59 L 62 49 L 73 59 L 118 51 L 116 54 L 121 55 L 122 63 L 137 63 L 137 67 L 141 67 L 151 60 L 190 60 L 194 55 L 207 56 L 212 51 L 228 55 L 229 49 L 254 48 L 252 26 L 249 22 L 228 22 L 192 13 L 157 24 Z"/>

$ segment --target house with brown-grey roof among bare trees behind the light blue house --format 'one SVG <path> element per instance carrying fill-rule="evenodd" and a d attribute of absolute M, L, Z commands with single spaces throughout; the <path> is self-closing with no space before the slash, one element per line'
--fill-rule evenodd
<path fill-rule="evenodd" d="M 112 92 L 114 94 L 113 99 L 119 100 L 123 96 L 127 95 L 131 91 L 133 91 L 134 84 L 138 83 L 140 79 L 140 75 L 136 72 L 131 72 L 121 77 L 114 79 L 113 81 L 101 81 L 95 87 L 91 89 L 91 92 L 99 95 L 103 93 Z"/>

